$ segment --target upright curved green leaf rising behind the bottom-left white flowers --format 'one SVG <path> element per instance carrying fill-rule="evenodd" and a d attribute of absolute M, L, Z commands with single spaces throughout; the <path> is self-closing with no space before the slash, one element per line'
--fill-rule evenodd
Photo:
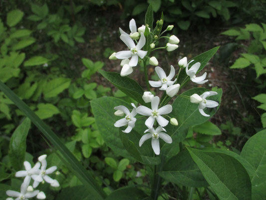
<path fill-rule="evenodd" d="M 9 143 L 8 156 L 15 170 L 21 170 L 25 161 L 26 138 L 30 128 L 30 119 L 25 118 L 23 122 L 17 126 L 11 136 Z"/>

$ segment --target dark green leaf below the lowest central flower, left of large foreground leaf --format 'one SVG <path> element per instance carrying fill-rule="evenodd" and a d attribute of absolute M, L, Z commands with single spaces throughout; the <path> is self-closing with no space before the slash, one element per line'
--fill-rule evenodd
<path fill-rule="evenodd" d="M 166 180 L 178 185 L 181 184 L 191 187 L 209 186 L 200 168 L 193 161 L 187 150 L 179 152 L 166 162 L 165 168 L 159 174 Z"/>

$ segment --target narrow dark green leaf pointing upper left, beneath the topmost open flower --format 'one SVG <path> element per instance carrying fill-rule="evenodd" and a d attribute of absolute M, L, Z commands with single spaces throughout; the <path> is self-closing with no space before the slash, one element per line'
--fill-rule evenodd
<path fill-rule="evenodd" d="M 119 73 L 115 72 L 107 72 L 103 70 L 99 70 L 99 72 L 125 94 L 135 99 L 139 103 L 145 104 L 144 100 L 142 99 L 144 90 L 135 80 L 126 76 L 122 77 Z"/>

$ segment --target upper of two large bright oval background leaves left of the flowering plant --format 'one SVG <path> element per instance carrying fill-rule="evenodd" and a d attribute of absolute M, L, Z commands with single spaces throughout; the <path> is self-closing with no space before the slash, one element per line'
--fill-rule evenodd
<path fill-rule="evenodd" d="M 45 98 L 54 97 L 57 94 L 61 93 L 63 90 L 69 87 L 71 82 L 70 78 L 54 78 L 46 83 L 43 87 L 43 94 Z"/>

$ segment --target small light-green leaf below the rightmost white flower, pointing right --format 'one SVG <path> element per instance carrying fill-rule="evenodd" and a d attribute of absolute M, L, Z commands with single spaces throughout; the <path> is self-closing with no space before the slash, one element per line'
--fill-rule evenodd
<path fill-rule="evenodd" d="M 209 135 L 220 135 L 222 134 L 220 128 L 212 123 L 211 121 L 206 121 L 200 125 L 196 125 L 193 127 L 195 132 L 199 132 L 202 134 L 209 134 Z"/>

